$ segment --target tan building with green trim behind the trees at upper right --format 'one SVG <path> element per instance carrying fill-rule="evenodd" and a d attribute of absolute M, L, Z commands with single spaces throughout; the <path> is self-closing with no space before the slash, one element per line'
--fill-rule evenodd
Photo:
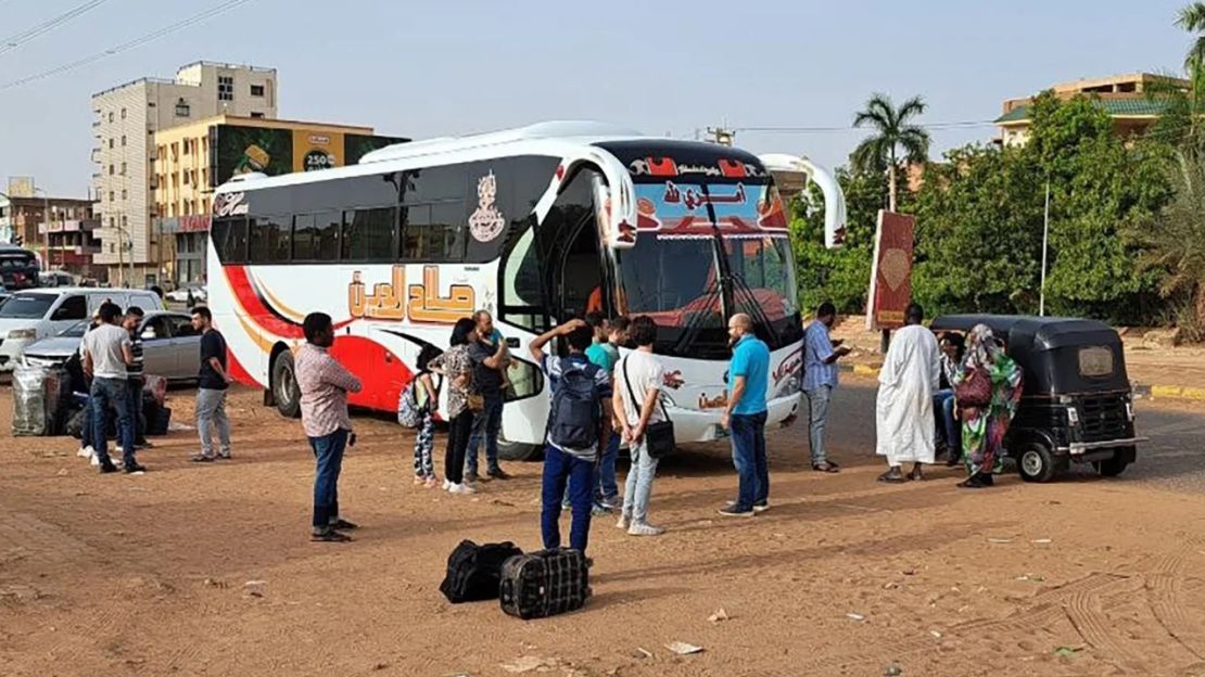
<path fill-rule="evenodd" d="M 1140 135 L 1163 114 L 1166 104 L 1152 90 L 1188 89 L 1188 81 L 1152 73 L 1130 73 L 1097 80 L 1077 80 L 1054 84 L 1051 89 L 1059 99 L 1092 96 L 1109 117 L 1113 129 L 1122 137 Z M 1004 114 L 995 119 L 1000 128 L 1000 142 L 1019 146 L 1029 139 L 1029 107 L 1034 98 L 1009 99 L 1004 102 Z"/>

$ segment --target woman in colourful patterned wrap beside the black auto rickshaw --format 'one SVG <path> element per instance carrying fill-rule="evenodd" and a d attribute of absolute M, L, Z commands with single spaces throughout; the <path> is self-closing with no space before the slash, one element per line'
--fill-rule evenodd
<path fill-rule="evenodd" d="M 976 324 L 966 337 L 966 359 L 956 377 L 954 387 L 970 378 L 975 370 L 983 370 L 992 381 L 992 401 L 987 407 L 958 404 L 963 422 L 963 458 L 966 479 L 958 485 L 981 489 L 993 484 L 992 475 L 1000 471 L 1000 447 L 1009 424 L 1021 401 L 1021 367 L 1005 354 L 992 330 Z M 957 392 L 957 390 L 956 390 Z"/>

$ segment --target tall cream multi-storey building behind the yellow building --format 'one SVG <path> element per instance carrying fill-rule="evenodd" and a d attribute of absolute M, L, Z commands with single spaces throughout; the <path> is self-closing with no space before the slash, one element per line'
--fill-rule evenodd
<path fill-rule="evenodd" d="M 272 119 L 277 95 L 275 69 L 198 61 L 175 80 L 141 78 L 92 96 L 101 242 L 94 261 L 108 267 L 110 281 L 142 287 L 166 275 L 152 228 L 159 216 L 152 200 L 154 134 L 219 113 Z"/>

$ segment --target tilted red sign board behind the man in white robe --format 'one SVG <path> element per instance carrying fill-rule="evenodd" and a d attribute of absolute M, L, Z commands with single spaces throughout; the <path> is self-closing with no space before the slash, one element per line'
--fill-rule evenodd
<path fill-rule="evenodd" d="M 870 270 L 866 329 L 904 326 L 904 312 L 912 301 L 912 234 L 916 219 L 878 211 L 875 258 Z"/>

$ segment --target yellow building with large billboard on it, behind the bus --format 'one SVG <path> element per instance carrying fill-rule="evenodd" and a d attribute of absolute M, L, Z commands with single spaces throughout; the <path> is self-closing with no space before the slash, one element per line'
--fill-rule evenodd
<path fill-rule="evenodd" d="M 355 164 L 369 151 L 406 139 L 374 136 L 349 126 L 214 116 L 157 131 L 151 167 L 155 252 L 164 279 L 205 282 L 213 189 L 243 172 L 281 175 Z"/>

